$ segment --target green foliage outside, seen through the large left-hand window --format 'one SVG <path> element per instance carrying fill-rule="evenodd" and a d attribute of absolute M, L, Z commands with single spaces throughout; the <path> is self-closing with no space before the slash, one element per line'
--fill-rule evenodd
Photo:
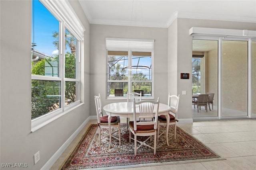
<path fill-rule="evenodd" d="M 54 58 L 47 58 L 38 61 L 32 66 L 32 74 L 44 75 L 45 63 L 57 61 L 58 55 Z M 76 76 L 76 58 L 72 53 L 65 55 L 65 77 L 75 78 Z M 31 101 L 31 118 L 34 119 L 50 111 L 59 108 L 60 102 L 60 82 L 32 80 L 32 101 Z M 67 104 L 75 102 L 76 99 L 76 82 L 66 82 L 65 101 Z"/>

